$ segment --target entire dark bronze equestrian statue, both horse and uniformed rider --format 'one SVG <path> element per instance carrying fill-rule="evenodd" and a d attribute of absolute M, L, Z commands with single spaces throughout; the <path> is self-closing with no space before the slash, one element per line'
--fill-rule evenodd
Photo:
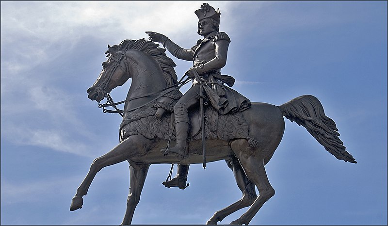
<path fill-rule="evenodd" d="M 147 32 L 151 41 L 124 40 L 119 45 L 108 46 L 106 52 L 108 60 L 103 63 L 103 69 L 97 81 L 87 92 L 91 100 L 100 102 L 104 98 L 108 99 L 107 104 L 100 106 L 112 106 L 117 112 L 122 113 L 120 143 L 93 161 L 86 178 L 72 199 L 71 211 L 82 207 L 82 196 L 87 194 L 97 172 L 106 166 L 127 160 L 130 164 L 130 189 L 122 225 L 129 225 L 139 203 L 150 164 L 179 164 L 176 178 L 180 182 L 178 181 L 177 185 L 181 189 L 186 187 L 185 178 L 189 164 L 203 163 L 202 141 L 204 139 L 200 135 L 202 130 L 205 132 L 206 162 L 225 160 L 233 170 L 237 185 L 242 191 L 242 199 L 216 211 L 207 224 L 215 225 L 229 214 L 244 207 L 250 207 L 240 218 L 231 222 L 234 225 L 248 225 L 263 204 L 275 194 L 264 166 L 272 158 L 283 137 L 283 116 L 305 127 L 337 159 L 356 163 L 353 156 L 345 150 L 345 146 L 339 139 L 335 122 L 324 114 L 318 98 L 304 95 L 280 106 L 260 102 L 251 103 L 224 85 L 231 86 L 234 80 L 230 76 L 221 74 L 219 69 L 223 65 L 210 67 L 209 62 L 212 59 L 205 57 L 199 62 L 193 59 L 195 51 L 200 52 L 201 45 L 211 44 L 216 47 L 218 41 L 227 45 L 230 43 L 229 37 L 218 31 L 218 26 L 208 24 L 207 28 L 204 27 L 202 22 L 205 20 L 201 19 L 201 16 L 206 17 L 206 21 L 210 23 L 213 20 L 217 22 L 217 19 L 219 22 L 219 11 L 214 10 L 214 13 L 213 10 L 204 3 L 201 9 L 195 11 L 199 18 L 198 33 L 203 35 L 206 33 L 204 31 L 208 31 L 207 29 L 212 30 L 203 35 L 204 39 L 199 40 L 191 49 L 177 47 L 166 36 L 156 32 Z M 190 92 L 182 95 L 178 88 L 187 80 L 178 82 L 174 70 L 175 63 L 165 55 L 166 49 L 159 48 L 159 45 L 154 42 L 162 42 L 170 52 L 175 50 L 180 52 L 180 54 L 175 52 L 174 56 L 187 56 L 186 60 L 193 61 L 194 66 L 186 74 L 189 78 L 194 78 L 194 74 L 198 73 L 201 78 L 197 80 L 204 82 L 205 85 L 196 85 L 198 82 L 196 80 Z M 220 45 L 223 46 L 221 43 Z M 222 49 L 221 47 L 221 51 Z M 227 52 L 225 46 L 224 50 Z M 205 52 L 208 54 L 211 51 Z M 216 51 L 214 54 L 217 54 Z M 119 102 L 124 103 L 124 109 L 118 110 L 116 105 L 119 103 L 113 102 L 109 92 L 123 85 L 129 78 L 132 82 L 126 100 Z M 199 87 L 205 90 L 206 102 L 208 102 L 204 109 L 205 116 L 202 117 L 205 122 L 204 128 L 198 126 L 201 124 L 198 107 L 191 108 L 187 112 L 187 117 L 186 115 L 182 117 L 185 121 L 179 119 L 182 116 L 180 113 L 185 112 L 180 108 L 183 100 L 187 100 L 188 97 L 194 98 L 193 106 L 198 106 L 196 95 L 199 93 Z M 241 97 L 240 100 L 243 100 L 241 105 L 230 104 L 227 101 L 229 100 L 226 98 L 227 95 L 219 95 L 222 93 L 216 89 L 220 87 L 234 97 Z M 228 104 L 220 105 L 220 103 Z M 183 125 L 178 128 L 177 118 L 178 123 Z M 181 131 L 177 132 L 177 129 Z M 183 138 L 179 138 L 178 134 L 184 134 Z M 161 150 L 165 149 L 170 140 L 178 148 L 175 152 L 170 151 L 169 154 L 163 155 Z M 184 147 L 181 148 L 179 145 Z M 255 192 L 255 186 L 259 190 L 259 195 Z"/>

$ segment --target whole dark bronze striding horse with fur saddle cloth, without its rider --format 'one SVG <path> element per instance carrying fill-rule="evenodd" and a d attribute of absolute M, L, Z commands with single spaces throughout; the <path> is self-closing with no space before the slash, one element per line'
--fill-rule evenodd
<path fill-rule="evenodd" d="M 107 98 L 116 110 L 116 104 L 124 103 L 124 109 L 118 110 L 123 116 L 120 125 L 120 143 L 105 155 L 93 161 L 90 170 L 77 189 L 72 199 L 70 210 L 82 208 L 82 196 L 92 183 L 93 178 L 102 168 L 122 161 L 130 164 L 130 189 L 127 209 L 122 225 L 130 225 L 134 210 L 139 203 L 144 182 L 150 164 L 161 163 L 202 163 L 202 140 L 198 129 L 191 124 L 188 140 L 188 158 L 178 160 L 174 155 L 163 155 L 172 138 L 170 119 L 173 100 L 178 98 L 179 84 L 174 67 L 175 63 L 166 56 L 164 48 L 144 39 L 124 40 L 119 45 L 110 47 L 106 52 L 108 60 L 102 64 L 103 69 L 97 81 L 87 90 L 88 97 L 98 103 Z M 115 87 L 123 85 L 131 78 L 131 85 L 125 101 L 114 103 L 109 96 Z M 156 112 L 162 104 L 158 100 L 169 97 L 164 103 L 165 113 L 157 117 Z M 236 182 L 243 193 L 242 198 L 230 206 L 216 211 L 207 222 L 216 225 L 227 215 L 245 207 L 250 207 L 240 218 L 231 222 L 234 225 L 248 225 L 263 204 L 274 194 L 265 172 L 265 164 L 271 160 L 284 133 L 283 116 L 302 125 L 323 147 L 337 159 L 357 163 L 339 139 L 335 122 L 324 114 L 321 102 L 311 95 L 296 97 L 280 106 L 268 103 L 252 102 L 240 116 L 245 122 L 239 122 L 233 115 L 217 118 L 217 114 L 207 107 L 206 118 L 206 162 L 225 160 L 235 173 Z M 106 109 L 104 110 L 106 112 Z M 195 120 L 195 113 L 190 117 Z M 215 115 L 215 116 L 214 116 Z M 225 118 L 227 117 L 227 118 Z M 236 123 L 237 122 L 237 123 Z M 245 124 L 249 127 L 244 129 Z M 195 124 L 195 123 L 194 123 Z M 247 130 L 239 136 L 232 136 L 230 130 Z M 246 136 L 246 137 L 244 137 Z M 236 176 L 240 175 L 240 176 Z M 255 186 L 259 195 L 256 194 Z"/>

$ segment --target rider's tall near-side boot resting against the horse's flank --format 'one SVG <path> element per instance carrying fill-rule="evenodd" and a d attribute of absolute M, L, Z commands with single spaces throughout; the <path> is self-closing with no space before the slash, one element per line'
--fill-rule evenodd
<path fill-rule="evenodd" d="M 176 144 L 174 147 L 171 147 L 168 149 L 169 152 L 177 154 L 179 160 L 183 160 L 186 157 L 186 143 L 187 143 L 187 136 L 189 132 L 189 123 L 187 122 L 177 122 L 175 124 L 175 131 L 176 131 Z M 162 149 L 163 152 L 164 149 Z"/>

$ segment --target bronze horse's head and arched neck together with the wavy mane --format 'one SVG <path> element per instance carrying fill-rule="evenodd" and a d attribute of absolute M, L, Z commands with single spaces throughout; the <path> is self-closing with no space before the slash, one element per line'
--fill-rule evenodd
<path fill-rule="evenodd" d="M 97 102 L 103 100 L 108 97 L 109 92 L 123 85 L 129 78 L 139 82 L 136 88 L 140 92 L 150 92 L 146 91 L 145 82 L 153 82 L 148 89 L 177 84 L 175 63 L 166 56 L 166 49 L 158 47 L 158 44 L 144 38 L 126 39 L 112 47 L 108 45 L 108 51 L 105 52 L 108 60 L 102 63 L 103 68 L 97 81 L 86 91 L 89 99 Z"/>

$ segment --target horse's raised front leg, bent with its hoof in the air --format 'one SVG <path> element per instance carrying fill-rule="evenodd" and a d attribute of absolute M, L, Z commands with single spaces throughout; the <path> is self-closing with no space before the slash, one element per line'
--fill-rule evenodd
<path fill-rule="evenodd" d="M 130 136 L 117 146 L 115 146 L 111 151 L 106 153 L 105 155 L 98 157 L 95 159 L 90 166 L 90 170 L 86 177 L 83 179 L 80 187 L 77 189 L 77 193 L 71 201 L 70 211 L 78 210 L 82 208 L 83 199 L 82 196 L 86 195 L 90 184 L 92 183 L 96 174 L 104 167 L 113 165 L 125 160 L 128 160 L 132 155 L 135 155 L 136 149 L 142 148 L 141 142 L 146 139 L 141 135 Z"/>

